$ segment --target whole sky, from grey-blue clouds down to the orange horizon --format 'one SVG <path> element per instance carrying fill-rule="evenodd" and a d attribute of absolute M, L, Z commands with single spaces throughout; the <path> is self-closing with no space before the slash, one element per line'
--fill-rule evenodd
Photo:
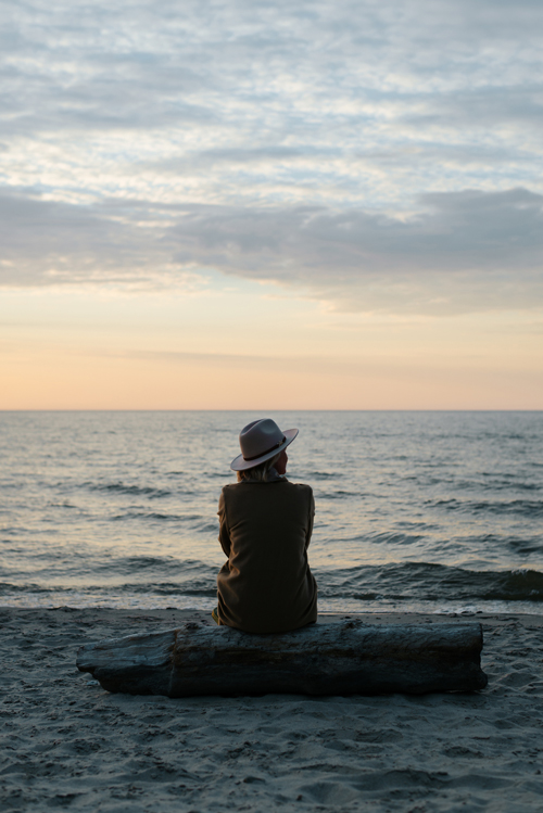
<path fill-rule="evenodd" d="M 542 409 L 541 0 L 0 0 L 0 409 Z"/>

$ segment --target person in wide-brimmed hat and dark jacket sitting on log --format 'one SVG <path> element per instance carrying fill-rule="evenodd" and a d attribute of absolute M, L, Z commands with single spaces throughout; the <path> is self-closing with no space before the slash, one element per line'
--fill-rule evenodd
<path fill-rule="evenodd" d="M 282 432 L 269 418 L 241 430 L 241 455 L 230 463 L 238 482 L 225 485 L 218 501 L 218 539 L 228 561 L 217 576 L 217 624 L 283 633 L 317 620 L 307 561 L 313 491 L 286 478 L 287 447 L 298 432 Z"/>

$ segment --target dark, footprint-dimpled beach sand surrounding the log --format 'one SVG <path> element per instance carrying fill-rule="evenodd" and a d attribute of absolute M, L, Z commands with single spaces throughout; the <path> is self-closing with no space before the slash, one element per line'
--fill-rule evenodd
<path fill-rule="evenodd" d="M 169 700 L 75 668 L 83 643 L 188 618 L 0 608 L 2 811 L 543 809 L 543 617 L 476 615 L 489 686 L 470 695 Z"/>

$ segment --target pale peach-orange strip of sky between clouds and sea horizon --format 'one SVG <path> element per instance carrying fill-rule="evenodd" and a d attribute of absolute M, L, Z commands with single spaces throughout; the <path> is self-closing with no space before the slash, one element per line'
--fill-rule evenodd
<path fill-rule="evenodd" d="M 2 302 L 3 410 L 543 408 L 538 322 L 515 315 L 364 318 L 261 289 Z"/>

